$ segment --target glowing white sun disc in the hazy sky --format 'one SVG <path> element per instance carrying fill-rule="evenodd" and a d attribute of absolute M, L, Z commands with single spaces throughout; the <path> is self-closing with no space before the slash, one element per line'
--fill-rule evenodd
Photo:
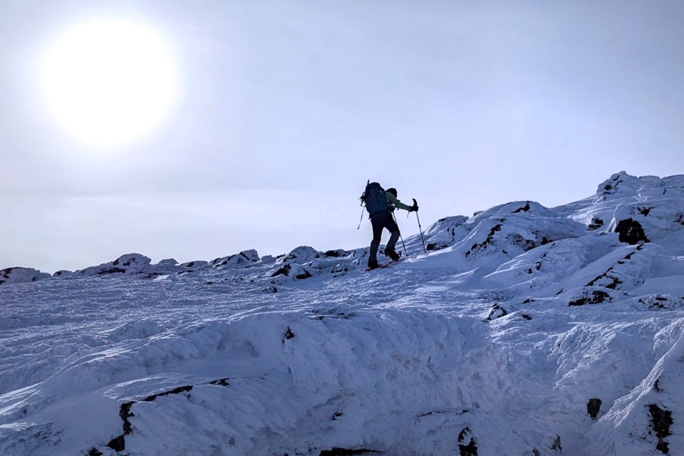
<path fill-rule="evenodd" d="M 175 97 L 165 43 L 125 21 L 74 28 L 56 41 L 43 67 L 57 120 L 90 145 L 115 145 L 147 133 Z"/>

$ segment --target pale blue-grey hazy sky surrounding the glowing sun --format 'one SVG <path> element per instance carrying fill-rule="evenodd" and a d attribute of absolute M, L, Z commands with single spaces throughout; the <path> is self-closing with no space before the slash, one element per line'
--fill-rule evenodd
<path fill-rule="evenodd" d="M 154 34 L 175 81 L 113 146 L 44 87 L 54 43 L 103 20 Z M 2 1 L 0 269 L 365 247 L 368 179 L 426 229 L 681 174 L 683 23 L 681 1 Z"/>

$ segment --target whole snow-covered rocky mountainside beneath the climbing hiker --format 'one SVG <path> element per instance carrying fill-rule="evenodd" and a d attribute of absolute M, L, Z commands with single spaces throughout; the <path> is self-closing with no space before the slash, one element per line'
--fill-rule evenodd
<path fill-rule="evenodd" d="M 684 455 L 683 228 L 684 176 L 621 172 L 371 272 L 311 247 L 2 269 L 0 454 Z"/>

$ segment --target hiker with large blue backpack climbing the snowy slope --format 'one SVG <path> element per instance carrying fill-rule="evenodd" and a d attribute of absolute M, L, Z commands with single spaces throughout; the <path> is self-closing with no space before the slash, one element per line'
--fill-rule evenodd
<path fill-rule="evenodd" d="M 404 209 L 408 212 L 417 212 L 418 203 L 413 199 L 413 206 L 403 204 L 403 202 L 397 199 L 397 189 L 390 188 L 385 191 L 378 182 L 366 185 L 366 191 L 363 192 L 361 199 L 366 203 L 368 218 L 371 219 L 371 225 L 373 225 L 373 241 L 371 241 L 371 254 L 368 257 L 368 268 L 375 269 L 380 267 L 380 264 L 378 264 L 378 247 L 380 247 L 383 228 L 387 228 L 390 232 L 390 240 L 387 246 L 385 246 L 385 255 L 393 261 L 399 259 L 395 246 L 400 232 L 397 222 L 392 217 L 392 212 L 396 208 Z"/>

